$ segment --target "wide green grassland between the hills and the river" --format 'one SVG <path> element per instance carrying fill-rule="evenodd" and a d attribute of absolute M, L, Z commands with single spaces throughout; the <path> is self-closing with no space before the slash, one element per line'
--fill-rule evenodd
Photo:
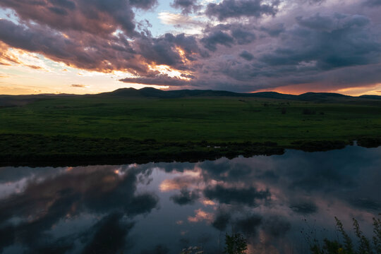
<path fill-rule="evenodd" d="M 315 144 L 319 150 L 323 144 L 325 150 L 332 144 L 341 147 L 352 140 L 379 137 L 381 100 L 377 99 L 86 95 L 0 108 L 0 159 L 5 164 L 47 156 L 133 160 L 176 159 L 184 152 L 187 159 L 202 154 L 271 154 L 279 153 L 279 148 Z"/>

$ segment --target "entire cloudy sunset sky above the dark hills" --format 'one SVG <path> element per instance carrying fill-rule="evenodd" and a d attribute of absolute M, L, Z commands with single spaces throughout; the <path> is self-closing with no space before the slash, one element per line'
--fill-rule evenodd
<path fill-rule="evenodd" d="M 1 0 L 0 94 L 381 95 L 381 0 Z"/>

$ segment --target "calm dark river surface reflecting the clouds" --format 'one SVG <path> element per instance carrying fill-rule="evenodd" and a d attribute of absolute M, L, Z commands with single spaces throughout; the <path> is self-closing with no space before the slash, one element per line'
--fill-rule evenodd
<path fill-rule="evenodd" d="M 198 163 L 0 168 L 0 253 L 306 253 L 381 210 L 381 148 Z"/>

